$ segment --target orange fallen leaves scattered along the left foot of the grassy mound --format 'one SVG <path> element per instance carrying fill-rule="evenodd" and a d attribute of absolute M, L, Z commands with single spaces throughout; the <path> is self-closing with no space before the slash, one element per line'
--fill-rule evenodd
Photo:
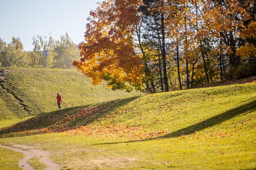
<path fill-rule="evenodd" d="M 76 114 L 67 115 L 60 114 L 59 116 L 52 119 L 56 121 L 49 127 L 45 128 L 35 128 L 33 130 L 25 130 L 26 127 L 31 126 L 31 124 L 21 124 L 21 126 L 11 126 L 3 128 L 0 132 L 10 132 L 11 135 L 35 135 L 35 134 L 45 134 L 45 133 L 59 133 L 67 132 L 71 135 L 80 135 L 80 136 L 93 136 L 93 135 L 102 135 L 105 137 L 123 137 L 130 141 L 135 140 L 145 140 L 150 138 L 158 137 L 159 135 L 164 135 L 168 133 L 168 130 L 162 131 L 152 131 L 144 132 L 143 127 L 138 126 L 129 126 L 122 124 L 92 124 L 86 123 L 86 125 L 73 125 L 76 124 L 76 120 L 84 120 L 90 118 L 97 118 L 99 114 L 106 111 L 106 105 L 92 106 L 88 108 L 83 108 L 78 110 Z M 106 115 L 109 117 L 109 115 Z M 64 118 L 63 118 L 64 117 Z M 38 122 L 37 118 L 34 117 L 34 122 Z M 8 136 L 8 135 L 7 135 Z"/>

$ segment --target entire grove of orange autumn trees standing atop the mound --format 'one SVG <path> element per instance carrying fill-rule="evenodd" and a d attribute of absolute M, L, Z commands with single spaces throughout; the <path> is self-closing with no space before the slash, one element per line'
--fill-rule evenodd
<path fill-rule="evenodd" d="M 93 84 L 150 93 L 256 75 L 255 13 L 253 0 L 105 0 L 73 64 Z"/>

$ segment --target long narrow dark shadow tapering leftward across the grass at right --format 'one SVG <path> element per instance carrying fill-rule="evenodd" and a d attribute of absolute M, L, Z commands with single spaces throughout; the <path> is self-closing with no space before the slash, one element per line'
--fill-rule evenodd
<path fill-rule="evenodd" d="M 184 135 L 189 135 L 195 133 L 195 131 L 200 131 L 205 128 L 209 128 L 211 126 L 221 124 L 224 121 L 227 121 L 233 117 L 236 117 L 238 115 L 245 115 L 248 113 L 251 113 L 256 110 L 256 100 L 249 102 L 247 104 L 241 105 L 237 108 L 228 110 L 224 113 L 221 113 L 219 115 L 213 116 L 209 119 L 206 119 L 204 121 L 201 121 L 197 124 L 188 126 L 186 128 L 182 128 L 180 130 L 176 130 L 174 132 L 168 133 L 164 136 L 160 137 L 154 137 L 150 139 L 144 139 L 144 140 L 137 140 L 137 141 L 148 141 L 153 139 L 159 139 L 159 138 L 174 138 L 174 137 L 180 137 Z M 119 143 L 130 143 L 130 142 L 137 142 L 137 141 L 121 141 L 121 142 L 113 142 L 113 143 L 102 143 L 102 144 L 94 144 L 94 145 L 104 145 L 104 144 L 119 144 Z"/>

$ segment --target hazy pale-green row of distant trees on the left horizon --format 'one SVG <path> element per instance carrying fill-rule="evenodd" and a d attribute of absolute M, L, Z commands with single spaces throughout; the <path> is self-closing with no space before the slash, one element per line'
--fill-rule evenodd
<path fill-rule="evenodd" d="M 24 51 L 20 38 L 13 37 L 10 43 L 0 38 L 0 66 L 44 68 L 45 50 L 49 51 L 47 68 L 74 68 L 72 62 L 80 57 L 78 46 L 67 33 L 60 40 L 37 35 L 32 43 L 33 51 Z"/>

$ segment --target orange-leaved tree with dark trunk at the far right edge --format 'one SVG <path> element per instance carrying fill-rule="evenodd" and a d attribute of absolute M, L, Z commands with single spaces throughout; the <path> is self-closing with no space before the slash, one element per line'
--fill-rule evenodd
<path fill-rule="evenodd" d="M 241 64 L 241 57 L 244 53 L 238 52 L 240 49 L 248 49 L 249 47 L 253 51 L 255 48 L 255 5 L 256 2 L 253 0 L 213 0 L 204 2 L 204 20 L 209 25 L 212 34 L 220 37 L 220 41 L 225 45 L 231 69 L 236 70 Z M 246 44 L 247 47 L 245 47 Z"/>

